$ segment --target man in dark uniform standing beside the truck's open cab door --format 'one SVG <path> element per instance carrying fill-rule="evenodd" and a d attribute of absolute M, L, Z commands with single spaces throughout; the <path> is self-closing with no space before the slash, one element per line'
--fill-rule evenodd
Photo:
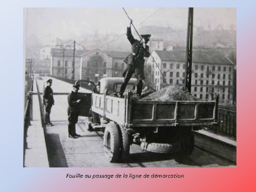
<path fill-rule="evenodd" d="M 78 138 L 81 135 L 76 134 L 75 124 L 78 122 L 79 102 L 78 96 L 79 85 L 73 85 L 73 91 L 68 94 L 68 133 L 70 138 Z"/>

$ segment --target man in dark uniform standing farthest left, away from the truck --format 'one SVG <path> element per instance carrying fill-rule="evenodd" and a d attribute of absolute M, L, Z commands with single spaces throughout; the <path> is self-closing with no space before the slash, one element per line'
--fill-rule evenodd
<path fill-rule="evenodd" d="M 52 79 L 47 80 L 46 83 L 47 83 L 47 86 L 44 89 L 44 93 L 43 93 L 43 105 L 45 106 L 45 110 L 46 110 L 45 124 L 53 126 L 53 124 L 50 122 L 50 111 L 52 106 L 54 105 L 53 90 L 51 88 Z"/>

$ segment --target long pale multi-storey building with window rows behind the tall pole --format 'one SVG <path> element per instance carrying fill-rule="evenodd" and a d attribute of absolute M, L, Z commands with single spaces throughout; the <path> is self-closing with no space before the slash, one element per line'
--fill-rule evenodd
<path fill-rule="evenodd" d="M 184 51 L 154 50 L 147 65 L 151 65 L 150 83 L 156 90 L 166 85 L 185 86 L 186 66 Z M 193 51 L 191 94 L 212 100 L 219 94 L 220 103 L 233 102 L 234 64 L 218 52 Z"/>

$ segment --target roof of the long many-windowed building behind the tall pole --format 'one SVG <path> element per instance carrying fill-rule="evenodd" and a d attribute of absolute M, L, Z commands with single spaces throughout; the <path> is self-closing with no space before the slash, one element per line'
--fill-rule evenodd
<path fill-rule="evenodd" d="M 186 52 L 183 50 L 160 51 L 155 50 L 161 60 L 186 61 Z M 214 50 L 193 50 L 193 63 L 232 64 L 223 53 Z"/>

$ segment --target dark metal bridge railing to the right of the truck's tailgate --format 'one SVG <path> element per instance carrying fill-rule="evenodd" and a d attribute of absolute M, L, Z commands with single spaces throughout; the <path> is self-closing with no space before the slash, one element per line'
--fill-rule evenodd
<path fill-rule="evenodd" d="M 236 138 L 236 111 L 218 108 L 217 122 L 217 125 L 211 127 L 215 133 L 226 134 Z"/>

